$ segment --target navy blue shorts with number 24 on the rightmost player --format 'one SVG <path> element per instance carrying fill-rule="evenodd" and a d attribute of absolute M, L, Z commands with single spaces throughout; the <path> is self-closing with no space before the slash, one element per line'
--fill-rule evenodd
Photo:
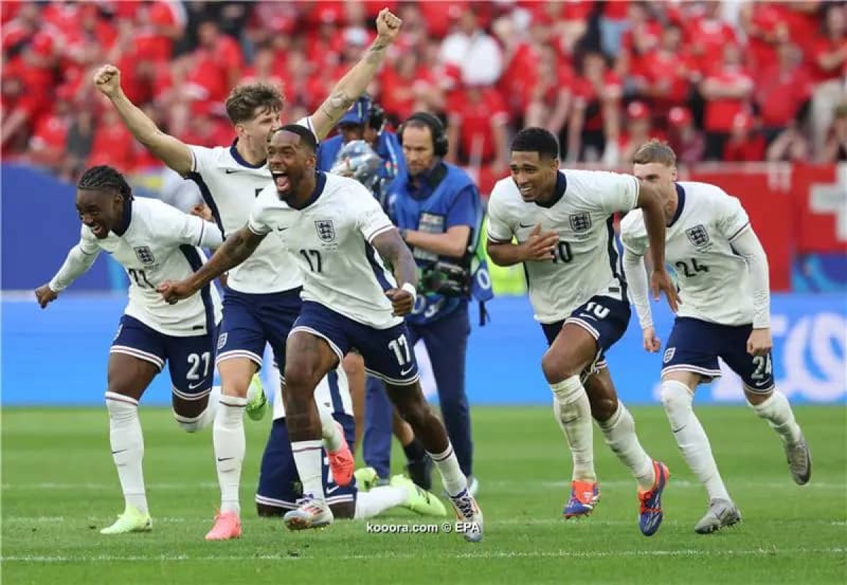
<path fill-rule="evenodd" d="M 711 382 L 721 375 L 717 363 L 720 357 L 754 392 L 769 392 L 773 388 L 772 356 L 770 352 L 767 356 L 747 353 L 747 338 L 752 330 L 752 325 L 720 325 L 677 317 L 662 356 L 662 375 L 694 372 Z"/>

